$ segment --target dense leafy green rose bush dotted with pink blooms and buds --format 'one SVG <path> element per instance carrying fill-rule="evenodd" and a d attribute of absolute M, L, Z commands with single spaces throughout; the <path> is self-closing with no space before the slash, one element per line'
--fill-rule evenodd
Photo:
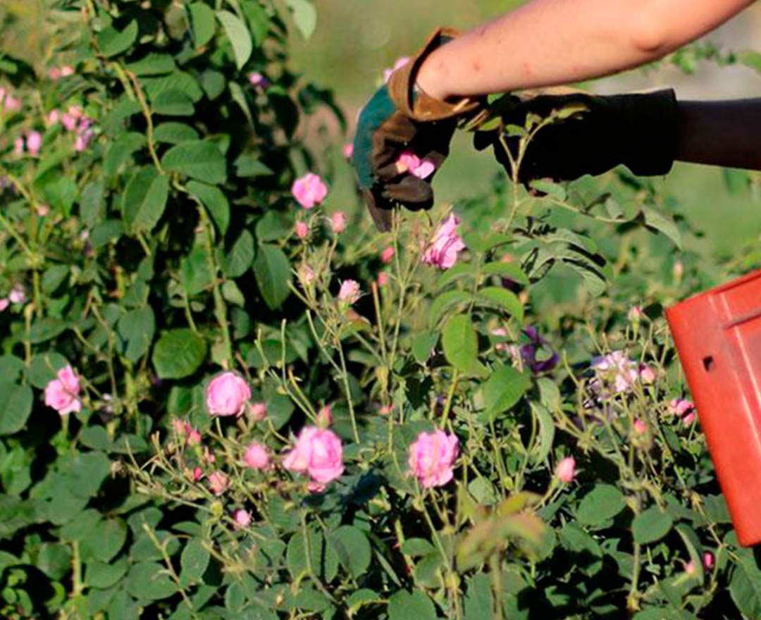
<path fill-rule="evenodd" d="M 761 616 L 662 318 L 756 246 L 681 250 L 626 171 L 377 234 L 299 123 L 343 122 L 287 68 L 309 2 L 39 17 L 0 56 L 0 616 Z"/>

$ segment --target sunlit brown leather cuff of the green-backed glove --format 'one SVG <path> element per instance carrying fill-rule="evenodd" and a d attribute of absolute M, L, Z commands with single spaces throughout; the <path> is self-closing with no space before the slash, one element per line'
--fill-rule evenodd
<path fill-rule="evenodd" d="M 460 97 L 453 101 L 442 101 L 429 97 L 419 88 L 416 90 L 415 81 L 422 62 L 435 49 L 459 35 L 460 31 L 454 28 L 437 28 L 419 52 L 406 65 L 391 74 L 388 93 L 396 108 L 405 116 L 419 122 L 454 119 L 482 107 L 481 98 Z"/>

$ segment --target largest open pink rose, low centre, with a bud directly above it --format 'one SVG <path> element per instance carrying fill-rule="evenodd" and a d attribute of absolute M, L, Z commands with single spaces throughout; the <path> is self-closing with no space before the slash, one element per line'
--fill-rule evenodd
<path fill-rule="evenodd" d="M 306 472 L 320 485 L 332 482 L 344 469 L 341 440 L 329 429 L 305 426 L 293 449 L 285 455 L 283 467 L 291 472 Z"/>

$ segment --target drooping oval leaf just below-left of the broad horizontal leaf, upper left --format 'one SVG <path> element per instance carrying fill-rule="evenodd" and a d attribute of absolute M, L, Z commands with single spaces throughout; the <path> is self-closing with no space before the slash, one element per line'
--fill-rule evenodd
<path fill-rule="evenodd" d="M 132 234 L 150 233 L 164 215 L 168 197 L 169 177 L 155 168 L 143 168 L 132 176 L 122 202 L 127 230 Z"/>

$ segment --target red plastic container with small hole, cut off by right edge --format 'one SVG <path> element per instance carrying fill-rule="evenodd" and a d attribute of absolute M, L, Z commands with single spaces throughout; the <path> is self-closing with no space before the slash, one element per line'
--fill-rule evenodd
<path fill-rule="evenodd" d="M 761 271 L 666 310 L 743 546 L 761 542 Z"/>

